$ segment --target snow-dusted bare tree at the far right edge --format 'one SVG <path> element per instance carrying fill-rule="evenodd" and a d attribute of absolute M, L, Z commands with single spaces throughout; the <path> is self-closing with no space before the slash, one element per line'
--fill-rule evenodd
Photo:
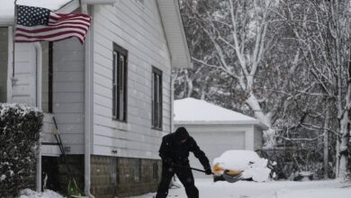
<path fill-rule="evenodd" d="M 350 2 L 306 1 L 293 6 L 285 3 L 294 38 L 302 46 L 305 63 L 316 85 L 313 90 L 329 98 L 331 109 L 337 112 L 336 174 L 345 177 L 351 115 Z M 293 10 L 296 6 L 302 8 L 302 14 Z"/>

